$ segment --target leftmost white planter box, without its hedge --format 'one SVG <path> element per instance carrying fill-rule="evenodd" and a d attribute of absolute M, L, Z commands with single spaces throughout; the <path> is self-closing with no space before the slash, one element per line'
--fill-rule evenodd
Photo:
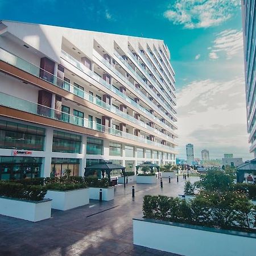
<path fill-rule="evenodd" d="M 0 197 L 0 214 L 28 221 L 41 221 L 51 218 L 52 200 L 29 201 Z"/>

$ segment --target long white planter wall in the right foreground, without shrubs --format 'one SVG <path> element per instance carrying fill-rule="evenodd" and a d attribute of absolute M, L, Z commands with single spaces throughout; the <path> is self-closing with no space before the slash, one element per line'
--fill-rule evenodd
<path fill-rule="evenodd" d="M 157 236 L 154 236 L 157 234 Z M 152 237 L 154 237 L 152 239 Z M 255 233 L 133 219 L 133 243 L 186 256 L 253 256 Z"/>

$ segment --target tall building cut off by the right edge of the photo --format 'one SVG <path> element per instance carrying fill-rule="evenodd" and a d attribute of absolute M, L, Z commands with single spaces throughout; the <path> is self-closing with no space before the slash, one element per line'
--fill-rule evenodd
<path fill-rule="evenodd" d="M 245 56 L 245 86 L 247 132 L 249 133 L 250 152 L 256 157 L 256 3 L 242 0 L 243 49 Z"/>

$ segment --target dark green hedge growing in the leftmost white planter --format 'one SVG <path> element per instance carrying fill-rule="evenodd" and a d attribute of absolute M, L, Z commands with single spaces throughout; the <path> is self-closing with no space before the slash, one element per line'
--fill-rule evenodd
<path fill-rule="evenodd" d="M 40 201 L 44 199 L 46 192 L 47 189 L 42 185 L 24 185 L 9 181 L 0 182 L 0 196 Z"/>

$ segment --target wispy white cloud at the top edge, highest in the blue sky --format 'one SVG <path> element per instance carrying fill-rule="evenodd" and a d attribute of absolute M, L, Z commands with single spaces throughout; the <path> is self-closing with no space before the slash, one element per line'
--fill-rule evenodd
<path fill-rule="evenodd" d="M 176 0 L 164 17 L 184 28 L 207 28 L 230 19 L 240 0 Z"/>

